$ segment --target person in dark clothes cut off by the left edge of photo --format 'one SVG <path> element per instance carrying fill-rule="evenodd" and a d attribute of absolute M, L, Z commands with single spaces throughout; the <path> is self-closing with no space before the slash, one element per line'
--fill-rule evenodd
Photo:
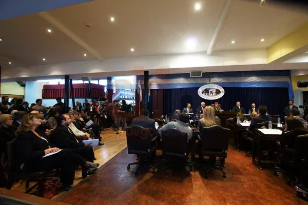
<path fill-rule="evenodd" d="M 5 169 L 8 166 L 7 142 L 10 142 L 15 137 L 15 131 L 12 129 L 13 117 L 8 114 L 0 115 L 0 187 L 6 186 L 6 178 L 4 175 Z"/>

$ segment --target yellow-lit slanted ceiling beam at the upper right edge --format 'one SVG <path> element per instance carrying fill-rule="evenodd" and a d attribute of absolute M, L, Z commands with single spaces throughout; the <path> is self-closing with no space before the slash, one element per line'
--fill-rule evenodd
<path fill-rule="evenodd" d="M 268 63 L 284 61 L 308 51 L 308 23 L 267 48 Z"/>

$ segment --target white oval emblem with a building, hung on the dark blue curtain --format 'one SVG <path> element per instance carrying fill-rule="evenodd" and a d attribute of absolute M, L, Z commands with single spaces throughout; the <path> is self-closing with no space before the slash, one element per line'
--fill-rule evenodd
<path fill-rule="evenodd" d="M 198 89 L 198 95 L 204 99 L 219 99 L 224 95 L 224 89 L 218 85 L 208 84 Z"/>

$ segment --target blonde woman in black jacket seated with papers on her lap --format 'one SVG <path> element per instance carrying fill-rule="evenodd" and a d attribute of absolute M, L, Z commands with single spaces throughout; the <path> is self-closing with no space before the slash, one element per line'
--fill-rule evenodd
<path fill-rule="evenodd" d="M 93 173 L 93 170 L 87 169 L 97 168 L 98 164 L 86 161 L 71 149 L 50 148 L 44 136 L 36 132 L 36 128 L 41 123 L 40 114 L 30 113 L 23 117 L 21 126 L 16 131 L 16 151 L 22 171 L 48 171 L 59 167 L 61 168 L 61 182 L 64 188 L 73 183 L 75 163 L 83 168 L 83 177 Z"/>

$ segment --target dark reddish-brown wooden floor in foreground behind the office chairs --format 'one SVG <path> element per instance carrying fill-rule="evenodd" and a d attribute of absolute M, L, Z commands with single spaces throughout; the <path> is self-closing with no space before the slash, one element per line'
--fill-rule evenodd
<path fill-rule="evenodd" d="M 87 177 L 59 200 L 70 204 L 308 204 L 295 195 L 285 179 L 252 165 L 251 157 L 229 148 L 227 178 L 213 170 L 164 174 L 141 169 L 136 177 L 126 167 L 136 156 L 127 149 L 108 161 L 95 175 Z"/>

